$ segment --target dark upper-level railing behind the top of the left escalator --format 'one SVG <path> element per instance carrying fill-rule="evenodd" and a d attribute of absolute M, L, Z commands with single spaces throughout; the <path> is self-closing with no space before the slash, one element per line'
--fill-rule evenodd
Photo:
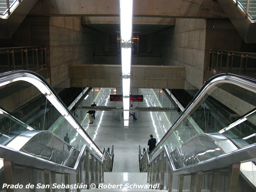
<path fill-rule="evenodd" d="M 47 66 L 46 47 L 8 47 L 0 48 L 0 70 L 38 71 Z"/>

